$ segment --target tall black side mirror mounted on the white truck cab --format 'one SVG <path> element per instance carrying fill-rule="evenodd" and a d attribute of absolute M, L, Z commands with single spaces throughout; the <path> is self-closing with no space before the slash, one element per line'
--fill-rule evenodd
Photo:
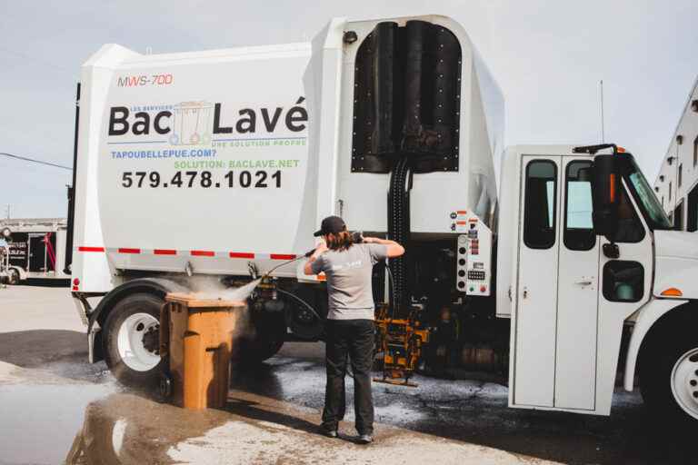
<path fill-rule="evenodd" d="M 616 160 L 615 155 L 596 155 L 593 159 L 593 229 L 610 242 L 618 231 L 618 196 L 621 192 Z"/>

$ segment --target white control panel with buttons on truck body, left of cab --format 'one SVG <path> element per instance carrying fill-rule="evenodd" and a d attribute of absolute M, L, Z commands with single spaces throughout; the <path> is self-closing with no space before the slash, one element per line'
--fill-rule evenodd
<path fill-rule="evenodd" d="M 487 296 L 492 287 L 492 231 L 471 216 L 459 228 L 456 288 L 467 295 Z"/>

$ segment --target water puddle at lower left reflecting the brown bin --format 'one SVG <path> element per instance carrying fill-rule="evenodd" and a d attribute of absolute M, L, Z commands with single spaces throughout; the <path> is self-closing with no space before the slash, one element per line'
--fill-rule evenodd
<path fill-rule="evenodd" d="M 167 450 L 230 420 L 105 384 L 0 386 L 0 463 L 169 463 Z"/>

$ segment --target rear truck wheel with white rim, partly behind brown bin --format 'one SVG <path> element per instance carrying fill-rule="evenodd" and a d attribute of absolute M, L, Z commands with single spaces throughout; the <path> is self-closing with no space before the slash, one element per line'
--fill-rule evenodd
<path fill-rule="evenodd" d="M 129 386 L 151 387 L 160 380 L 160 307 L 163 300 L 138 293 L 117 302 L 106 318 L 106 365 Z"/>

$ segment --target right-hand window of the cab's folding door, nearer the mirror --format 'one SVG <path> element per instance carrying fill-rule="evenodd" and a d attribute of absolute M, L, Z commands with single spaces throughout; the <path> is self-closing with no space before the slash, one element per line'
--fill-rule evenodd
<path fill-rule="evenodd" d="M 563 242 L 572 251 L 588 251 L 596 245 L 592 222 L 591 167 L 592 163 L 586 161 L 567 165 Z"/>

